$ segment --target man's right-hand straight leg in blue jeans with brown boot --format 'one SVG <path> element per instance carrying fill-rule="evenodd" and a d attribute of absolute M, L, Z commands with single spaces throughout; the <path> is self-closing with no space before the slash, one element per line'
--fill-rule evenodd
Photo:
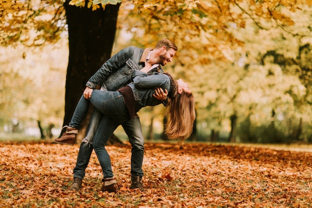
<path fill-rule="evenodd" d="M 139 188 L 144 191 L 141 183 L 143 177 L 144 137 L 139 116 L 122 124 L 131 143 L 131 189 Z"/>

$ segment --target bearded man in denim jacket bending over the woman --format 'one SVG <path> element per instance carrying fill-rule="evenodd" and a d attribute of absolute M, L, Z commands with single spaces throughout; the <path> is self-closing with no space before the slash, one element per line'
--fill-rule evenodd
<path fill-rule="evenodd" d="M 175 52 L 177 51 L 176 45 L 168 40 L 159 40 L 156 47 L 147 48 L 145 50 L 130 46 L 127 47 L 109 60 L 107 60 L 102 67 L 89 79 L 84 90 L 84 97 L 86 99 L 91 97 L 92 91 L 96 86 L 101 84 L 101 90 L 118 90 L 121 87 L 130 83 L 130 70 L 141 70 L 149 74 L 162 73 L 161 66 L 164 66 L 167 62 L 171 62 Z M 161 65 L 161 66 L 160 66 Z M 155 97 L 166 103 L 167 92 L 163 92 L 162 89 L 156 89 Z M 100 111 L 94 110 L 87 128 L 86 138 L 83 139 L 80 145 L 76 167 L 74 168 L 74 181 L 70 186 L 70 190 L 78 191 L 82 185 L 82 179 L 85 176 L 85 169 L 88 166 L 93 147 L 90 144 L 95 135 L 95 132 L 105 134 L 105 126 L 98 126 L 100 121 L 103 120 L 103 115 Z M 142 126 L 139 116 L 122 124 L 126 134 L 129 137 L 129 141 L 132 145 L 131 156 L 131 189 L 140 189 L 144 191 L 144 187 L 141 183 L 143 177 L 143 157 L 144 157 L 144 137 L 142 134 Z M 69 126 L 65 126 L 66 132 L 62 137 L 55 139 L 54 141 L 62 144 L 73 145 L 78 129 Z M 112 181 L 113 180 L 113 181 Z M 115 179 L 108 181 L 103 179 L 103 186 L 101 191 L 116 192 L 116 187 L 108 189 L 109 185 L 116 183 Z"/>

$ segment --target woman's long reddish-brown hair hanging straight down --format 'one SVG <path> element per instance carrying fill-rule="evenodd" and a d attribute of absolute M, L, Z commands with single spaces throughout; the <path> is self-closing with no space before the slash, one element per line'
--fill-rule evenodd
<path fill-rule="evenodd" d="M 169 101 L 165 134 L 169 139 L 187 139 L 195 121 L 195 102 L 192 93 L 182 92 Z"/>

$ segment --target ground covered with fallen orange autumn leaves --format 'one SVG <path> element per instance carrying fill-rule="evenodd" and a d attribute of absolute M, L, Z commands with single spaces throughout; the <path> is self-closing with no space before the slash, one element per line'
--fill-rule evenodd
<path fill-rule="evenodd" d="M 147 143 L 147 191 L 130 190 L 130 145 L 107 147 L 118 192 L 101 187 L 95 153 L 83 187 L 69 191 L 79 146 L 0 143 L 2 208 L 308 208 L 312 153 L 264 147 Z"/>

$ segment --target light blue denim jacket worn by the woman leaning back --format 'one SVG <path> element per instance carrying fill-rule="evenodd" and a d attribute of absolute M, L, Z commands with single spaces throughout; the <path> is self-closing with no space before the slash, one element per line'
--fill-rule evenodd
<path fill-rule="evenodd" d="M 161 103 L 153 96 L 157 87 L 161 87 L 163 91 L 166 89 L 168 94 L 171 91 L 171 80 L 165 74 L 149 75 L 138 70 L 131 70 L 130 73 L 133 82 L 128 86 L 131 87 L 135 97 L 136 112 L 145 106 L 155 106 Z"/>

